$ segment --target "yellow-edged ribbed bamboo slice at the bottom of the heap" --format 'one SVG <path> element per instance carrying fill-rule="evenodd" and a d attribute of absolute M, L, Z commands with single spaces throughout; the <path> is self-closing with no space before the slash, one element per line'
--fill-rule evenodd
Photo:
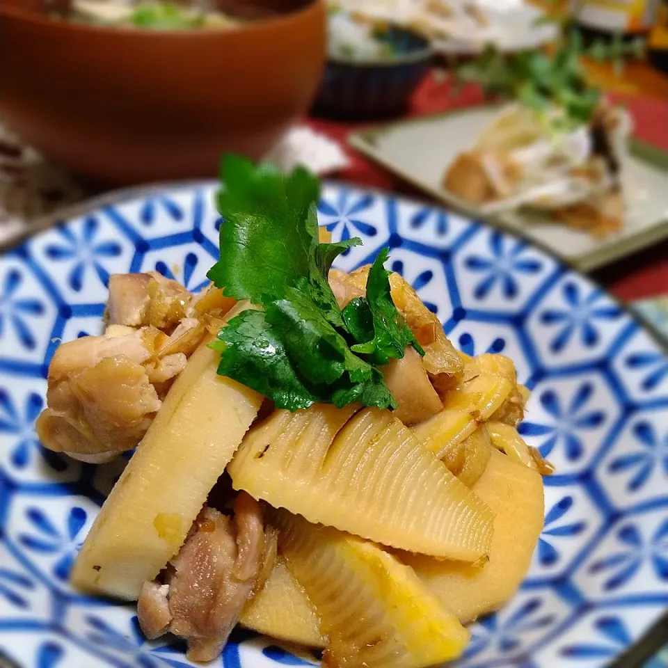
<path fill-rule="evenodd" d="M 374 543 L 286 511 L 272 521 L 329 639 L 326 665 L 420 668 L 461 654 L 468 631 L 412 568 Z"/>

